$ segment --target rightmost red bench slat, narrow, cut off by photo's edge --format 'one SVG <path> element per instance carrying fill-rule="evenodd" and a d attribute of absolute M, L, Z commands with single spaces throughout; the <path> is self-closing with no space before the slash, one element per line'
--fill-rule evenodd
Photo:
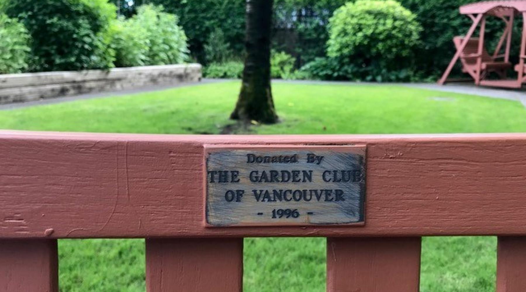
<path fill-rule="evenodd" d="M 526 291 L 526 237 L 499 237 L 497 292 Z"/>

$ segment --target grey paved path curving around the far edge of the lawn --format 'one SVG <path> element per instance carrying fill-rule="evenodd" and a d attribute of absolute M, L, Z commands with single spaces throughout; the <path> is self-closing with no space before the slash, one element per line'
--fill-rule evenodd
<path fill-rule="evenodd" d="M 122 90 L 122 91 L 115 91 L 115 92 L 99 92 L 99 93 L 90 93 L 86 95 L 79 95 L 79 96 L 72 96 L 72 97 L 43 99 L 43 100 L 38 100 L 38 101 L 28 101 L 28 102 L 21 102 L 21 103 L 11 103 L 9 105 L 0 105 L 0 110 L 8 110 L 8 109 L 40 106 L 40 105 L 50 105 L 53 103 L 60 103 L 60 102 L 81 100 L 81 99 L 116 97 L 116 96 L 130 95 L 133 93 L 150 92 L 150 91 L 164 90 L 164 89 L 177 88 L 177 87 L 195 86 L 195 85 L 201 85 L 201 84 L 211 84 L 211 83 L 226 82 L 226 81 L 232 81 L 232 80 L 234 79 L 203 79 L 203 81 L 201 82 L 181 84 L 181 85 L 176 85 L 176 86 L 150 86 L 150 87 L 144 87 L 144 88 L 139 88 L 139 89 Z M 517 101 L 522 102 L 524 107 L 526 107 L 526 91 L 524 89 L 522 90 L 494 89 L 494 88 L 474 86 L 472 84 L 449 84 L 446 86 L 440 86 L 440 85 L 431 84 L 431 83 L 381 83 L 381 84 L 378 84 L 378 83 L 373 83 L 373 82 L 313 81 L 313 80 L 274 80 L 272 82 L 294 83 L 294 84 L 320 84 L 320 85 L 339 84 L 339 85 L 348 85 L 348 86 L 398 85 L 398 86 L 407 86 L 411 88 L 423 88 L 423 89 L 431 89 L 431 90 L 438 90 L 438 91 L 444 91 L 444 92 L 466 93 L 470 95 L 478 95 L 478 96 L 491 97 L 491 98 L 517 100 Z"/>

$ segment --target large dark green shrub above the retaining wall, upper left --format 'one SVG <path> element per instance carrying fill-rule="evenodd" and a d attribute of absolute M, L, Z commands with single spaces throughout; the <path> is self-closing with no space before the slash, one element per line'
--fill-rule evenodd
<path fill-rule="evenodd" d="M 115 5 L 106 0 L 6 0 L 32 37 L 32 71 L 105 69 L 113 51 L 104 37 Z"/>

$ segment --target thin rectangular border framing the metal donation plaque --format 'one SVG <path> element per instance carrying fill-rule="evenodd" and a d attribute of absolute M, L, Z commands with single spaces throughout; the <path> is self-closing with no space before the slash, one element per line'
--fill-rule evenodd
<path fill-rule="evenodd" d="M 232 228 L 232 227 L 363 227 L 366 224 L 366 202 L 367 202 L 367 144 L 204 144 L 204 155 L 203 155 L 203 224 L 207 228 Z M 208 185 L 207 185 L 207 169 L 208 169 L 208 156 L 210 153 L 220 152 L 225 150 L 269 150 L 278 151 L 280 149 L 321 149 L 331 150 L 336 152 L 354 152 L 362 155 L 363 157 L 363 172 L 364 180 L 360 183 L 360 221 L 354 223 L 241 223 L 234 225 L 212 225 L 208 223 Z"/>

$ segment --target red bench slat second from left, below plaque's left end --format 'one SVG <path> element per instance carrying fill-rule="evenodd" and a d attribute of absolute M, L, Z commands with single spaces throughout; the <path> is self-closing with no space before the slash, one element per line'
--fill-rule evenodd
<path fill-rule="evenodd" d="M 147 292 L 241 292 L 243 239 L 147 239 Z"/>

